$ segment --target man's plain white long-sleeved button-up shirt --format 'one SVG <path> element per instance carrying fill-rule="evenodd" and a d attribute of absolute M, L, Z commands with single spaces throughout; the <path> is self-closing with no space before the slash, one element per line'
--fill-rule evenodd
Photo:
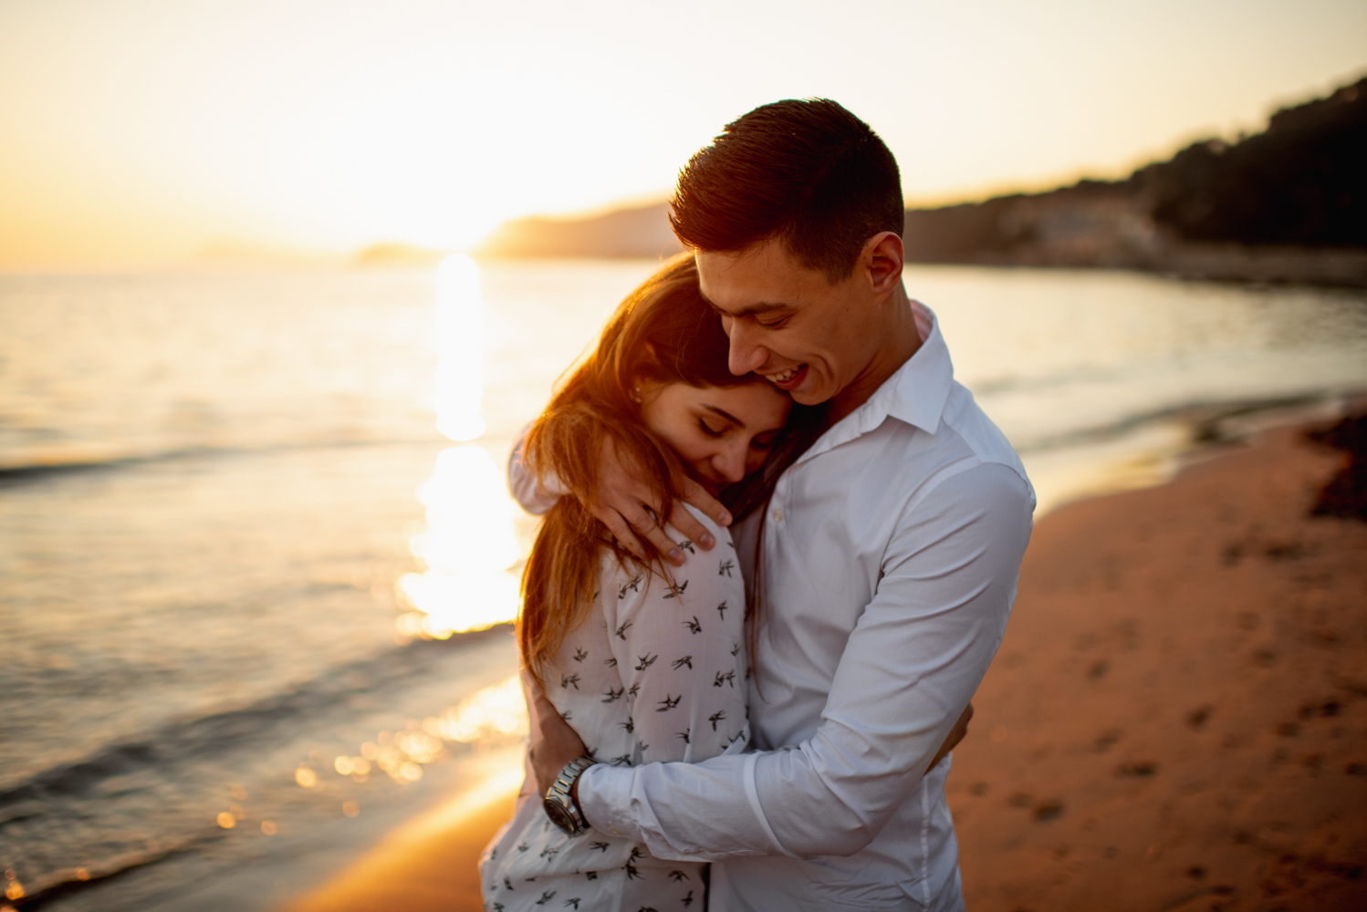
<path fill-rule="evenodd" d="M 950 762 L 925 766 L 1002 642 L 1035 497 L 912 309 L 920 350 L 779 478 L 761 537 L 759 513 L 734 530 L 746 579 L 760 537 L 756 752 L 580 780 L 596 829 L 714 861 L 714 912 L 962 907 Z M 554 502 L 517 453 L 509 475 Z"/>

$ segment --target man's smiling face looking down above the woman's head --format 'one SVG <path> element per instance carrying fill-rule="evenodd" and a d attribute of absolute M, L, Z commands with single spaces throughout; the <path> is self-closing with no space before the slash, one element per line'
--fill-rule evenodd
<path fill-rule="evenodd" d="M 738 254 L 697 251 L 699 285 L 731 339 L 733 374 L 755 371 L 804 405 L 854 382 L 878 345 L 864 257 L 845 279 L 798 263 L 779 240 Z"/>

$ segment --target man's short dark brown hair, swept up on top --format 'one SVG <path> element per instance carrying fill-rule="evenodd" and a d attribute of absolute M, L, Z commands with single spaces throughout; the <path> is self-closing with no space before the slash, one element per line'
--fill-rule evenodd
<path fill-rule="evenodd" d="M 893 153 L 828 98 L 775 101 L 726 124 L 679 172 L 670 206 L 686 247 L 740 253 L 778 238 L 831 281 L 906 218 Z"/>

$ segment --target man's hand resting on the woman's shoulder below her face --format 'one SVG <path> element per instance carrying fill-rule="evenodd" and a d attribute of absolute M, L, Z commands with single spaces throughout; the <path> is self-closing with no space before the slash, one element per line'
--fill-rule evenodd
<path fill-rule="evenodd" d="M 651 560 L 652 553 L 659 553 L 675 567 L 684 565 L 684 552 L 664 534 L 660 516 L 704 552 L 716 545 L 707 527 L 684 509 L 685 502 L 703 511 L 718 526 L 731 524 L 730 512 L 693 479 L 684 482 L 684 502 L 674 501 L 667 509 L 662 509 L 655 502 L 651 486 L 640 481 L 640 468 L 625 464 L 618 457 L 612 438 L 607 436 L 603 437 L 599 481 L 599 500 L 596 504 L 586 504 L 589 512 L 607 526 L 622 547 L 642 561 Z"/>

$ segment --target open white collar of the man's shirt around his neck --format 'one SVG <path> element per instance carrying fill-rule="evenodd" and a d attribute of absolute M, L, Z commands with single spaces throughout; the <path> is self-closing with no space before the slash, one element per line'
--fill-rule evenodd
<path fill-rule="evenodd" d="M 868 401 L 822 434 L 798 461 L 874 431 L 887 418 L 906 422 L 928 434 L 939 430 L 940 415 L 954 382 L 954 365 L 935 313 L 919 300 L 910 302 L 910 306 L 921 347 L 874 390 Z"/>

